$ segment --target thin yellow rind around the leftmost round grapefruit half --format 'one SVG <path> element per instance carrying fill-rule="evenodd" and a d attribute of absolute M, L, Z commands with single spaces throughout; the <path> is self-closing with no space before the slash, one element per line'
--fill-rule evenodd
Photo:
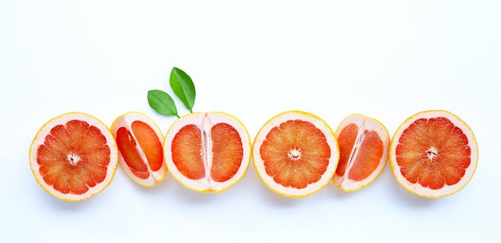
<path fill-rule="evenodd" d="M 36 138 L 38 137 L 38 134 L 40 133 L 40 131 L 42 131 L 42 129 L 45 128 L 45 126 L 47 126 L 47 124 L 49 124 L 51 121 L 54 121 L 54 119 L 57 119 L 59 117 L 65 116 L 65 115 L 71 115 L 71 114 L 80 114 L 80 115 L 86 115 L 88 117 L 92 117 L 96 121 L 99 121 L 103 126 L 105 126 L 105 128 L 107 128 L 108 132 L 111 134 L 111 137 L 113 137 L 113 139 L 115 139 L 113 133 L 111 133 L 111 131 L 109 130 L 109 127 L 106 126 L 106 124 L 104 122 L 102 122 L 100 119 L 98 119 L 97 117 L 94 117 L 93 115 L 89 115 L 89 114 L 84 113 L 84 112 L 77 112 L 77 111 L 66 112 L 66 113 L 61 114 L 61 115 L 59 115 L 57 117 L 52 117 L 52 119 L 49 119 L 49 121 L 45 122 L 45 124 L 43 124 L 43 126 L 41 126 L 40 129 L 38 129 L 38 132 L 36 133 L 35 137 L 33 137 L 33 140 L 31 140 L 31 145 L 29 146 L 29 152 L 28 152 L 28 161 L 29 162 L 31 160 L 30 157 L 31 157 L 31 149 L 33 149 L 33 143 L 35 142 Z M 116 165 L 113 168 L 113 173 L 111 174 L 111 177 L 109 178 L 109 182 L 104 187 L 102 187 L 102 189 L 99 190 L 98 192 L 95 192 L 94 194 L 88 195 L 86 197 L 82 197 L 82 199 L 67 199 L 67 198 L 64 198 L 64 197 L 61 197 L 61 196 L 56 196 L 55 194 L 52 194 L 52 192 L 50 192 L 49 190 L 47 190 L 47 188 L 38 180 L 38 178 L 37 178 L 37 176 L 35 174 L 36 172 L 33 169 L 33 167 L 31 166 L 31 162 L 30 162 L 29 163 L 29 167 L 31 169 L 31 174 L 33 174 L 33 177 L 35 178 L 35 181 L 38 183 L 38 185 L 40 185 L 40 187 L 42 187 L 43 190 L 45 190 L 45 192 L 47 192 L 51 196 L 54 196 L 56 199 L 63 200 L 63 201 L 84 201 L 86 199 L 90 199 L 91 197 L 93 197 L 93 196 L 99 194 L 100 192 L 102 192 L 103 190 L 105 190 L 109 186 L 109 184 L 111 184 L 111 181 L 113 181 L 113 178 L 115 177 L 116 169 L 118 167 L 119 162 L 118 162 L 118 146 L 116 146 L 116 140 L 113 140 L 113 142 L 114 142 L 114 146 L 115 146 L 115 149 L 116 149 L 117 156 L 116 156 Z M 111 145 L 113 145 L 113 144 L 111 144 Z"/>

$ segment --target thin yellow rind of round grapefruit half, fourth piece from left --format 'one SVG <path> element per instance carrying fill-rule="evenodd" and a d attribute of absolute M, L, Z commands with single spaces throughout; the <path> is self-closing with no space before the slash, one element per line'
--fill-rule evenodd
<path fill-rule="evenodd" d="M 337 144 L 336 135 L 334 134 L 334 131 L 332 131 L 332 128 L 330 128 L 329 124 L 327 124 L 327 122 L 325 122 L 322 118 L 320 118 L 320 117 L 318 117 L 318 116 L 316 116 L 316 115 L 314 115 L 312 113 L 305 112 L 305 111 L 302 111 L 302 110 L 288 110 L 288 111 L 279 113 L 278 115 L 275 115 L 271 119 L 268 119 L 268 121 L 266 121 L 265 124 L 263 124 L 263 126 L 261 126 L 261 129 L 259 129 L 258 133 L 256 134 L 256 137 L 254 137 L 254 142 L 252 142 L 252 151 L 254 151 L 254 144 L 256 144 L 257 137 L 258 137 L 259 133 L 261 133 L 261 130 L 263 130 L 263 128 L 267 124 L 269 124 L 272 120 L 274 120 L 275 118 L 280 117 L 282 115 L 285 115 L 286 113 L 291 113 L 291 112 L 300 113 L 302 115 L 307 115 L 309 117 L 313 117 L 314 119 L 318 119 L 319 121 L 322 121 L 323 124 L 325 124 L 325 126 L 329 129 L 330 134 L 332 135 L 332 137 L 334 137 L 334 141 L 336 141 L 338 161 L 336 161 L 336 165 L 334 165 L 334 170 L 333 170 L 334 172 L 332 173 L 332 175 L 330 175 L 330 178 L 331 178 L 330 180 L 332 181 L 332 176 L 334 176 L 334 173 L 336 173 L 337 163 L 339 162 L 339 144 Z M 258 171 L 258 169 L 256 167 L 256 160 L 254 160 L 254 153 L 252 153 L 251 156 L 252 156 L 252 165 L 254 165 L 254 169 L 256 170 L 256 174 L 258 174 L 259 179 L 264 183 L 264 185 L 266 185 L 266 187 L 268 187 L 268 189 L 272 190 L 272 192 L 275 192 L 276 194 L 279 194 L 280 196 L 285 196 L 285 197 L 288 197 L 288 198 L 291 198 L 291 199 L 298 199 L 298 198 L 302 198 L 302 197 L 306 197 L 306 196 L 310 196 L 312 194 L 315 194 L 316 192 L 319 192 L 325 186 L 327 186 L 327 184 L 329 184 L 329 181 L 327 181 L 324 185 L 321 185 L 321 187 L 318 187 L 318 190 L 315 190 L 313 192 L 310 192 L 310 193 L 304 194 L 304 195 L 290 195 L 290 194 L 285 194 L 283 192 L 279 192 L 278 190 L 275 190 L 270 185 L 268 185 L 268 183 L 266 183 L 266 181 L 264 180 L 263 176 L 261 176 L 261 174 L 259 174 L 259 171 Z"/>

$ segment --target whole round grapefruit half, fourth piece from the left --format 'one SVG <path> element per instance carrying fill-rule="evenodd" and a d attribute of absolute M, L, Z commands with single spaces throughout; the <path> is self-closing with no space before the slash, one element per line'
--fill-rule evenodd
<path fill-rule="evenodd" d="M 270 119 L 252 146 L 261 180 L 282 196 L 321 190 L 336 171 L 339 149 L 330 127 L 315 115 L 288 111 Z"/>

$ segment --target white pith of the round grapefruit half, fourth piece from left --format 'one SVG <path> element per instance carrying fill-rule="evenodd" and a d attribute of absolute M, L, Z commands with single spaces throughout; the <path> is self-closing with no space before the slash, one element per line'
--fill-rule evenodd
<path fill-rule="evenodd" d="M 323 133 L 323 135 L 325 135 L 325 139 L 327 140 L 327 144 L 329 145 L 331 150 L 329 164 L 327 165 L 327 169 L 325 170 L 325 173 L 321 176 L 320 180 L 316 181 L 315 183 L 311 183 L 307 185 L 307 187 L 302 189 L 293 187 L 284 187 L 282 184 L 276 183 L 273 180 L 273 178 L 266 173 L 264 161 L 263 158 L 261 158 L 261 153 L 260 153 L 261 145 L 263 144 L 263 141 L 266 139 L 266 135 L 270 133 L 272 128 L 274 128 L 275 126 L 280 126 L 280 124 L 286 121 L 297 120 L 297 119 L 302 121 L 309 121 L 311 122 L 311 124 L 316 126 L 316 128 L 318 128 Z M 293 152 L 294 149 L 295 148 L 291 148 L 291 151 L 289 151 L 289 153 Z M 284 112 L 281 115 L 278 115 L 277 117 L 274 117 L 273 119 L 268 121 L 268 123 L 265 124 L 263 128 L 261 128 L 261 131 L 259 131 L 258 135 L 256 135 L 256 140 L 254 140 L 252 153 L 256 171 L 258 172 L 259 176 L 263 179 L 263 182 L 266 185 L 268 185 L 268 187 L 270 187 L 273 191 L 278 192 L 279 194 L 293 197 L 307 196 L 309 194 L 317 192 L 327 183 L 329 183 L 330 179 L 332 178 L 332 174 L 334 174 L 334 171 L 336 170 L 337 161 L 339 160 L 339 148 L 337 146 L 337 140 L 334 137 L 334 134 L 332 134 L 332 130 L 330 129 L 330 127 L 327 124 L 325 124 L 324 121 L 314 117 L 313 115 L 297 111 Z"/>

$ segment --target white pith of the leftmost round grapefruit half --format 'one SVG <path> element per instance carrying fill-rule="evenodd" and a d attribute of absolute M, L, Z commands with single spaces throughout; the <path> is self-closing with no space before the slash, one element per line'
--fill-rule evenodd
<path fill-rule="evenodd" d="M 96 128 L 98 128 L 102 133 L 102 135 L 105 136 L 110 151 L 109 165 L 106 171 L 105 180 L 95 185 L 94 187 L 89 187 L 87 192 L 79 195 L 70 193 L 64 194 L 62 192 L 59 192 L 58 190 L 55 190 L 52 185 L 47 185 L 47 183 L 43 181 L 43 176 L 40 175 L 40 165 L 38 165 L 38 162 L 36 161 L 38 146 L 40 146 L 45 142 L 45 137 L 49 135 L 50 130 L 54 128 L 54 126 L 65 125 L 68 121 L 75 119 L 86 121 L 90 126 L 95 126 Z M 68 154 L 68 156 L 71 155 Z M 49 194 L 52 194 L 53 196 L 56 196 L 59 199 L 64 199 L 68 201 L 79 201 L 94 196 L 95 194 L 98 194 L 99 192 L 104 190 L 105 187 L 107 187 L 107 185 L 111 182 L 111 179 L 113 179 L 114 176 L 114 171 L 116 170 L 116 166 L 118 165 L 118 150 L 116 148 L 115 139 L 108 130 L 107 126 L 105 126 L 105 124 L 102 124 L 98 119 L 95 119 L 94 117 L 91 117 L 84 113 L 72 112 L 60 115 L 59 117 L 55 117 L 54 119 L 48 121 L 47 124 L 45 124 L 42 128 L 40 128 L 40 131 L 38 132 L 35 139 L 33 140 L 33 143 L 31 144 L 31 149 L 29 152 L 29 162 L 31 170 L 33 171 L 33 175 L 36 178 L 36 181 L 38 181 L 40 185 L 43 185 L 44 189 L 47 190 Z"/>

